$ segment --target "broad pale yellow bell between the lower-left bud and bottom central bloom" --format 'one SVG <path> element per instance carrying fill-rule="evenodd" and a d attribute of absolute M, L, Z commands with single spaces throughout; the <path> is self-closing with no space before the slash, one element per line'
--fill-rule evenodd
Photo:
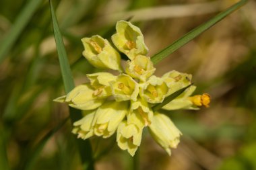
<path fill-rule="evenodd" d="M 127 101 L 107 101 L 96 111 L 93 120 L 94 134 L 108 138 L 117 130 L 119 123 L 128 112 Z"/>

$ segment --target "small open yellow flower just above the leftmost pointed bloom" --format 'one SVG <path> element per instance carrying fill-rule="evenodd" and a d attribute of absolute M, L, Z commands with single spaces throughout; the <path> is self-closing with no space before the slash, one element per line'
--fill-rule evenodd
<path fill-rule="evenodd" d="M 117 76 L 110 73 L 101 72 L 87 75 L 90 79 L 92 87 L 94 87 L 94 95 L 99 98 L 104 98 L 112 95 L 110 88 L 110 81 L 115 81 Z"/>

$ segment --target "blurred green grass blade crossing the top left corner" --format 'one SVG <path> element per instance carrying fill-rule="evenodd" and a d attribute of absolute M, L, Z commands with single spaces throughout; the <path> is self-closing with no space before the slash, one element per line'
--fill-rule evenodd
<path fill-rule="evenodd" d="M 41 2 L 42 0 L 30 0 L 24 9 L 18 14 L 11 30 L 7 32 L 0 42 L 0 63 L 7 56 L 7 53 L 19 38 Z"/>

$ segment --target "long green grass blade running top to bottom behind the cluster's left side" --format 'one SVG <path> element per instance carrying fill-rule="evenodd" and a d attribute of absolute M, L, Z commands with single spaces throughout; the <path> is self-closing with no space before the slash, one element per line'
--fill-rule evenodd
<path fill-rule="evenodd" d="M 53 3 L 51 0 L 49 0 L 49 3 L 50 3 L 51 15 L 53 19 L 53 32 L 55 34 L 57 52 L 59 56 L 60 66 L 61 66 L 61 74 L 63 77 L 65 91 L 66 93 L 68 93 L 69 91 L 71 91 L 71 89 L 73 89 L 73 87 L 75 87 L 75 85 L 73 83 L 69 62 L 67 60 L 67 53 L 65 51 L 63 38 L 61 36 L 55 11 L 53 9 Z M 70 118 L 72 123 L 75 122 L 75 120 L 79 120 L 82 118 L 82 113 L 79 110 L 75 110 L 73 108 L 69 108 L 69 110 L 70 110 Z M 81 161 L 84 169 L 94 169 L 93 159 L 92 159 L 92 147 L 90 145 L 90 141 L 77 139 L 76 142 L 77 142 L 79 155 L 81 157 Z"/>

